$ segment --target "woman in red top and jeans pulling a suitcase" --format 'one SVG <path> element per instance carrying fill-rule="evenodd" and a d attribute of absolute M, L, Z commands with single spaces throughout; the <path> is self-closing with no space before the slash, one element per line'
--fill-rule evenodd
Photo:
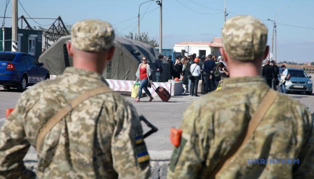
<path fill-rule="evenodd" d="M 140 87 L 139 87 L 139 95 L 138 97 L 134 100 L 135 102 L 139 102 L 140 98 L 142 96 L 142 89 L 146 92 L 148 96 L 150 96 L 150 101 L 152 101 L 154 98 L 152 97 L 151 92 L 147 88 L 149 83 L 152 81 L 150 80 L 151 75 L 152 75 L 152 70 L 150 68 L 150 65 L 147 63 L 147 58 L 144 56 L 142 58 L 143 63 L 139 65 L 139 69 L 136 72 L 136 77 L 137 81 L 140 80 Z"/>

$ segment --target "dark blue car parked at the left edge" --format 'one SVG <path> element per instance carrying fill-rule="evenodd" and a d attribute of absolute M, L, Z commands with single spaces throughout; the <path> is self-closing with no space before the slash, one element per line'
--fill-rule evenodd
<path fill-rule="evenodd" d="M 49 79 L 49 71 L 33 56 L 21 52 L 0 52 L 0 85 L 4 89 L 24 91 L 45 79 Z"/>

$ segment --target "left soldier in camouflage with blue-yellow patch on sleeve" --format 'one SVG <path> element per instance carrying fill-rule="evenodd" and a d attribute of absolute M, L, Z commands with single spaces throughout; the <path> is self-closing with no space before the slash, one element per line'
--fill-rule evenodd
<path fill-rule="evenodd" d="M 0 179 L 33 178 L 23 158 L 43 124 L 86 90 L 108 86 L 101 74 L 114 53 L 114 30 L 101 20 L 72 27 L 74 68 L 27 89 L 0 131 Z M 141 179 L 149 155 L 135 108 L 115 92 L 90 97 L 59 123 L 36 149 L 39 179 Z"/>

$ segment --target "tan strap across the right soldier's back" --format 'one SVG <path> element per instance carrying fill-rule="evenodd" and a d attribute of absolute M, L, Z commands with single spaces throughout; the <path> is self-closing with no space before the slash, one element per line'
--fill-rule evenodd
<path fill-rule="evenodd" d="M 209 179 L 215 179 L 215 176 L 219 174 L 219 172 L 223 171 L 222 169 L 231 162 L 231 160 L 239 153 L 240 149 L 246 144 L 246 142 L 251 138 L 255 129 L 261 123 L 263 117 L 266 112 L 270 108 L 270 106 L 275 101 L 277 93 L 273 89 L 269 89 L 262 102 L 258 106 L 256 112 L 253 114 L 251 120 L 248 123 L 247 130 L 243 132 L 238 142 L 230 149 L 228 154 L 222 159 L 214 171 L 210 174 Z"/>

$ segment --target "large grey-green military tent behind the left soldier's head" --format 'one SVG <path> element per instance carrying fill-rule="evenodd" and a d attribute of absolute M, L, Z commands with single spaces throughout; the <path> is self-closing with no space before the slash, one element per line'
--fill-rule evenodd
<path fill-rule="evenodd" d="M 39 62 L 44 64 L 50 75 L 60 75 L 66 67 L 73 66 L 73 60 L 66 50 L 68 40 L 70 40 L 70 35 L 62 36 L 39 57 Z M 113 80 L 135 80 L 142 57 L 147 57 L 151 68 L 155 71 L 155 61 L 158 60 L 158 55 L 157 50 L 149 44 L 116 37 L 115 53 L 104 70 L 103 77 Z M 170 65 L 166 59 L 162 60 L 162 70 L 163 82 L 171 79 Z M 155 73 L 153 73 L 153 80 L 155 79 Z"/>

